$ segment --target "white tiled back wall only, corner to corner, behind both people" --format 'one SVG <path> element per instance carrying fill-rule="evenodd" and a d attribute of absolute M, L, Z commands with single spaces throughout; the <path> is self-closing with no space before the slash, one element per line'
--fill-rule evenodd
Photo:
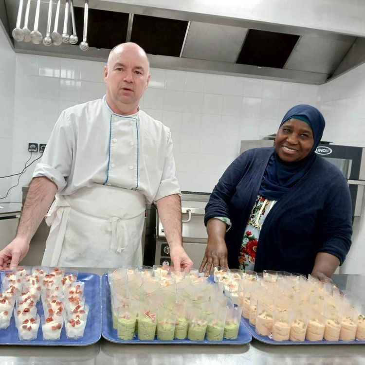
<path fill-rule="evenodd" d="M 17 54 L 16 64 L 14 171 L 29 156 L 28 142 L 47 142 L 61 110 L 105 93 L 100 62 Z M 317 93 L 317 86 L 151 69 L 141 107 L 171 128 L 182 189 L 210 192 L 240 140 L 274 133 L 288 108 L 315 104 Z M 13 195 L 20 199 L 20 188 Z"/>

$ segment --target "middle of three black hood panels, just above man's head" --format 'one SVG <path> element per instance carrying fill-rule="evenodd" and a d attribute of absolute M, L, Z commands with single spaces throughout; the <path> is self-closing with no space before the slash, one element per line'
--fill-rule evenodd
<path fill-rule="evenodd" d="M 188 21 L 148 17 L 133 17 L 131 42 L 139 44 L 146 53 L 179 57 Z"/>

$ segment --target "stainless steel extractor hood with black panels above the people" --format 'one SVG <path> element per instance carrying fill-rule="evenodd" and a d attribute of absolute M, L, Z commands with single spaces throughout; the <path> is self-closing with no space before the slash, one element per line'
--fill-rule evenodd
<path fill-rule="evenodd" d="M 31 0 L 31 29 L 36 3 L 36 0 Z M 257 21 L 242 20 L 240 23 L 237 19 L 229 21 L 223 16 L 200 14 L 198 17 L 192 12 L 181 10 L 162 11 L 146 5 L 133 6 L 130 2 L 128 5 L 104 0 L 90 1 L 90 48 L 87 51 L 81 51 L 78 47 L 82 40 L 84 21 L 82 0 L 74 0 L 78 43 L 46 47 L 42 43 L 35 45 L 32 42 L 16 42 L 12 38 L 18 4 L 18 0 L 0 0 L 2 25 L 15 51 L 19 53 L 105 61 L 113 46 L 130 40 L 146 50 L 152 67 L 322 84 L 333 74 L 338 74 L 339 69 L 345 72 L 354 66 L 348 60 L 353 59 L 353 55 L 352 58 L 347 55 L 353 54 L 355 47 L 357 52 L 360 49 L 361 55 L 365 49 L 364 38 L 354 35 Z M 53 21 L 55 4 L 56 0 Z M 60 32 L 64 4 L 65 0 L 61 0 Z M 26 0 L 23 4 L 23 18 L 25 6 Z M 43 36 L 47 12 L 48 1 L 42 0 L 38 29 Z M 71 21 L 69 23 L 71 32 Z M 54 24 L 52 29 L 53 26 Z M 362 56 L 360 60 L 363 60 Z"/>

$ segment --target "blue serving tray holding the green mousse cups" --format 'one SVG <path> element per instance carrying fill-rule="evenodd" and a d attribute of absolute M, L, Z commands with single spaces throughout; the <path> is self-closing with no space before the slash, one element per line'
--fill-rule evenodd
<path fill-rule="evenodd" d="M 166 344 L 186 344 L 186 345 L 244 345 L 249 343 L 252 340 L 252 336 L 250 332 L 245 328 L 245 326 L 241 323 L 238 331 L 238 337 L 236 340 L 227 340 L 223 339 L 223 341 L 208 341 L 206 338 L 203 341 L 190 341 L 188 339 L 185 340 L 172 340 L 172 341 L 162 341 L 158 340 L 157 336 L 155 336 L 154 340 L 146 341 L 139 340 L 136 337 L 133 340 L 121 340 L 117 336 L 117 330 L 113 329 L 113 320 L 111 314 L 111 305 L 110 305 L 110 286 L 108 282 L 108 275 L 104 274 L 101 277 L 101 293 L 102 293 L 102 336 L 110 341 L 118 344 L 152 344 L 152 345 L 166 345 Z"/>

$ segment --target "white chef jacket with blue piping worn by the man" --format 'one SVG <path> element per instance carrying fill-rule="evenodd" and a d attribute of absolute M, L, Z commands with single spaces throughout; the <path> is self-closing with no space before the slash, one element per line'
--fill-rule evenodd
<path fill-rule="evenodd" d="M 59 195 L 106 184 L 140 191 L 147 203 L 180 194 L 170 129 L 139 110 L 118 115 L 105 96 L 63 110 L 36 165 Z"/>

